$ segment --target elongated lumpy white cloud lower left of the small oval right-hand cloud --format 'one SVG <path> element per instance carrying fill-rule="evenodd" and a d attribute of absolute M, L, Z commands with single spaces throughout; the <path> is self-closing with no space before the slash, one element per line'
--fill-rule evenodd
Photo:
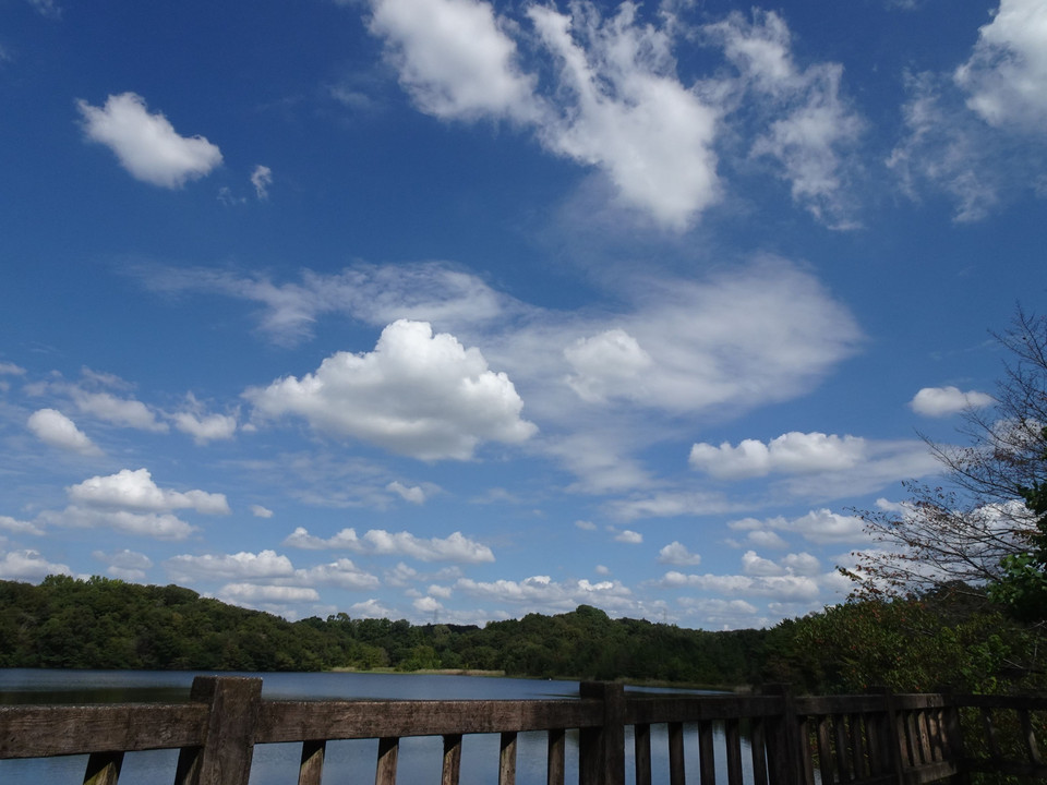
<path fill-rule="evenodd" d="M 850 469 L 864 459 L 865 451 L 865 439 L 855 436 L 791 432 L 767 444 L 756 439 L 744 439 L 737 447 L 696 444 L 690 449 L 690 466 L 725 479 L 771 472 L 808 474 Z"/>

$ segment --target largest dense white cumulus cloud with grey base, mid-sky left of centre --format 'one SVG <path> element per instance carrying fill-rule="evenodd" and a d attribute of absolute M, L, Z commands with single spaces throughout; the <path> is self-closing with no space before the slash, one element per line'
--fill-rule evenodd
<path fill-rule="evenodd" d="M 537 430 L 520 418 L 508 376 L 489 370 L 479 349 L 406 319 L 386 327 L 373 352 L 339 352 L 314 374 L 244 396 L 261 415 L 298 414 L 320 432 L 422 460 L 465 460 L 481 442 L 519 444 Z"/>

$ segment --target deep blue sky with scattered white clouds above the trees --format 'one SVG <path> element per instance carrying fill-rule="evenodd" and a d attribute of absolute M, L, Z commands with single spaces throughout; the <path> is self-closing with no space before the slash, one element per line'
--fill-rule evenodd
<path fill-rule="evenodd" d="M 772 625 L 1044 291 L 1044 0 L 0 0 L 0 578 Z"/>

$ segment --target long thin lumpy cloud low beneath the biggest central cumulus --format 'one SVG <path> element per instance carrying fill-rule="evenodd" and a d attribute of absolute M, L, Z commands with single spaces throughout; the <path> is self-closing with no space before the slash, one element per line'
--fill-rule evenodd
<path fill-rule="evenodd" d="M 486 545 L 470 540 L 461 532 L 446 538 L 419 538 L 410 532 L 387 532 L 371 529 L 362 538 L 354 529 L 342 529 L 327 540 L 314 536 L 303 527 L 298 527 L 284 541 L 285 545 L 305 550 L 344 550 L 377 556 L 408 556 L 419 561 L 457 561 L 481 564 L 494 561 L 494 554 Z"/>

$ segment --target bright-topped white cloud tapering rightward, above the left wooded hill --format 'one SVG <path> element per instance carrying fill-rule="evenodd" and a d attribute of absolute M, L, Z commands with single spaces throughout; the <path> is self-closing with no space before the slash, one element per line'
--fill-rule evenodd
<path fill-rule="evenodd" d="M 194 509 L 205 515 L 229 512 L 225 494 L 160 488 L 153 482 L 148 469 L 123 469 L 108 476 L 94 476 L 70 486 L 67 493 L 74 503 L 134 512 L 169 512 L 176 509 Z"/>

